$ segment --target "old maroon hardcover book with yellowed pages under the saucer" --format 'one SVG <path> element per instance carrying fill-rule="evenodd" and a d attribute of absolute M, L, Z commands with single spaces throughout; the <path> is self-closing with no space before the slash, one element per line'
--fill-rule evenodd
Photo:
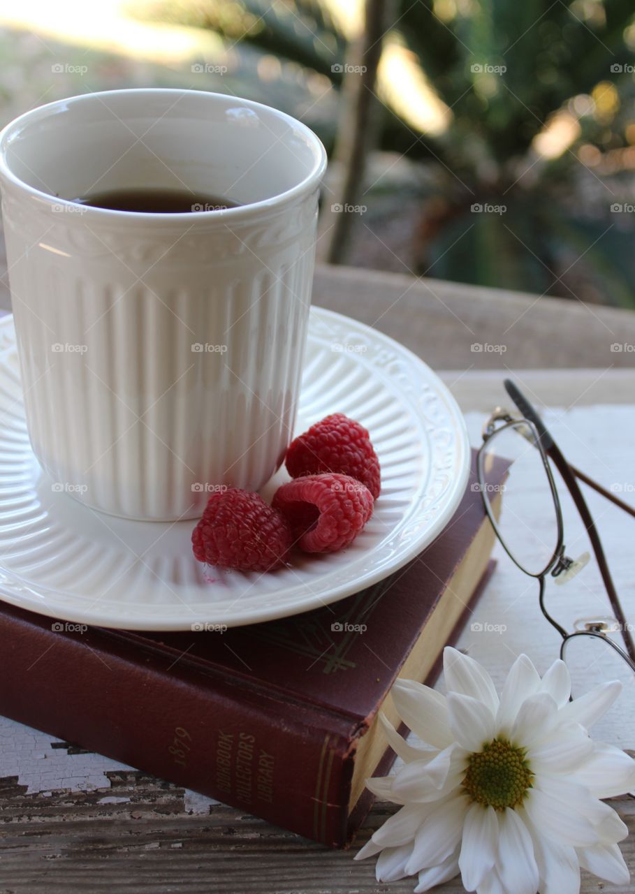
<path fill-rule="evenodd" d="M 491 571 L 475 480 L 472 468 L 453 519 L 416 559 L 292 618 L 82 632 L 0 603 L 0 712 L 344 847 L 372 803 L 365 780 L 394 760 L 377 721 L 381 709 L 398 725 L 394 679 L 435 679 Z"/>

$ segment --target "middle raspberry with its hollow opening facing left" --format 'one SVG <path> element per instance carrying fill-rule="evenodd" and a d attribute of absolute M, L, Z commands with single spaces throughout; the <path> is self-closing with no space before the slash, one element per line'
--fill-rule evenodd
<path fill-rule="evenodd" d="M 348 475 L 294 478 L 278 487 L 272 506 L 288 521 L 304 552 L 337 552 L 352 543 L 373 511 L 368 487 Z"/>

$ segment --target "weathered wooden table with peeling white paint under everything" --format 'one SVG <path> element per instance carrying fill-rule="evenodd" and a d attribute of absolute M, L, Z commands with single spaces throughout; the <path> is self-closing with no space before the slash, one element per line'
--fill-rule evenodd
<path fill-rule="evenodd" d="M 549 412 L 549 424 L 573 462 L 607 485 L 633 480 L 635 314 L 344 268 L 318 269 L 314 301 L 377 326 L 443 371 L 468 414 L 474 443 L 487 410 L 504 401 L 502 379 L 512 372 L 536 401 L 559 408 Z M 9 306 L 7 291 L 0 293 L 0 306 Z M 529 507 L 534 511 L 539 519 L 543 508 Z M 568 537 L 581 539 L 567 506 L 565 516 Z M 618 588 L 633 617 L 635 528 L 605 510 L 602 525 Z M 460 645 L 486 663 L 500 683 L 520 651 L 545 671 L 557 643 L 539 618 L 536 595 L 518 598 L 526 580 L 504 555 L 499 558 L 476 623 Z M 589 571 L 581 603 L 599 597 L 594 574 Z M 564 600 L 565 611 L 564 596 L 555 598 Z M 584 614 L 581 605 L 579 614 Z M 487 629 L 487 620 L 499 621 L 504 633 L 479 632 L 479 624 Z M 615 741 L 635 746 L 635 717 L 608 723 Z M 622 799 L 614 806 L 633 831 L 635 802 Z M 392 812 L 391 805 L 377 804 L 354 849 Z M 374 860 L 354 863 L 354 849 L 326 851 L 12 721 L 0 721 L 0 820 L 0 894 L 402 894 L 414 887 L 413 880 L 377 884 Z M 631 839 L 623 851 L 632 870 Z M 454 881 L 441 890 L 451 894 L 462 887 Z M 582 890 L 633 892 L 635 884 L 614 888 L 585 875 Z"/>

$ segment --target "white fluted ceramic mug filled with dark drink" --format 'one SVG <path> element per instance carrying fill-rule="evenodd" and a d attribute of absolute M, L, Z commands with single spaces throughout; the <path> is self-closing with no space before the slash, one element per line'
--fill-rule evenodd
<path fill-rule="evenodd" d="M 275 472 L 300 387 L 325 165 L 288 115 L 194 90 L 87 94 L 4 128 L 27 425 L 58 489 L 124 518 L 191 519 L 210 492 L 258 490 Z M 241 206 L 71 201 L 129 188 Z"/>

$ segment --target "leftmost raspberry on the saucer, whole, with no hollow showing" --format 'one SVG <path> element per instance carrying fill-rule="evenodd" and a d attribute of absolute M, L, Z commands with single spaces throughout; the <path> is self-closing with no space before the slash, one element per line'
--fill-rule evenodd
<path fill-rule="evenodd" d="M 284 564 L 292 536 L 283 516 L 258 493 L 232 487 L 209 498 L 191 542 L 199 561 L 240 571 L 269 571 Z"/>

